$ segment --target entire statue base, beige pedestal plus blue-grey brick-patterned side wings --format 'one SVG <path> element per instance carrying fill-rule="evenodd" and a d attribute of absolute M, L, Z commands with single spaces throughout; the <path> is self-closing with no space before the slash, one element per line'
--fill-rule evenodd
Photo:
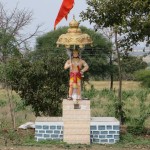
<path fill-rule="evenodd" d="M 62 140 L 69 144 L 113 144 L 119 140 L 120 123 L 114 117 L 90 117 L 90 101 L 63 101 L 63 117 L 37 117 L 35 138 Z"/>

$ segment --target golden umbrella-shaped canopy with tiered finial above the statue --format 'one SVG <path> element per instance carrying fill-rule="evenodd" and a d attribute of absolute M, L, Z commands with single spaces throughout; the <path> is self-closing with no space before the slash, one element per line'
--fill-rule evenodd
<path fill-rule="evenodd" d="M 73 18 L 69 23 L 69 29 L 66 34 L 60 35 L 57 46 L 64 45 L 66 48 L 71 48 L 71 46 L 79 46 L 79 48 L 84 48 L 85 45 L 92 45 L 93 41 L 88 34 L 82 33 L 79 28 L 79 23 Z"/>

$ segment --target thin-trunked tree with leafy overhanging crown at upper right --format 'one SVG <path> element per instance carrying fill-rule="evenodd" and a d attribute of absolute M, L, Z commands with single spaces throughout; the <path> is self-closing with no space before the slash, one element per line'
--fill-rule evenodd
<path fill-rule="evenodd" d="M 87 0 L 88 8 L 81 13 L 83 20 L 89 20 L 101 28 L 113 28 L 118 60 L 119 91 L 118 114 L 124 122 L 122 110 L 122 68 L 120 51 L 131 50 L 131 46 L 150 36 L 150 7 L 148 0 Z"/>

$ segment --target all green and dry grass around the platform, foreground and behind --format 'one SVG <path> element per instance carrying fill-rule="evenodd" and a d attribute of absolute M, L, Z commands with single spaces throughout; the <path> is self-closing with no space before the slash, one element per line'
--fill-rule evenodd
<path fill-rule="evenodd" d="M 108 81 L 91 81 L 90 84 L 86 85 L 87 89 L 91 88 L 91 85 L 94 85 L 92 90 L 87 90 L 85 93 L 91 100 L 91 114 L 92 116 L 114 116 L 114 103 L 116 101 L 116 97 L 114 93 L 111 93 L 109 89 L 110 82 Z M 118 82 L 114 82 L 114 89 L 117 91 Z M 123 81 L 123 100 L 125 102 L 125 111 L 126 114 L 132 116 L 133 118 L 138 118 L 141 114 L 140 112 L 140 101 L 138 93 L 144 92 L 145 89 L 140 87 L 139 82 L 134 81 Z M 35 121 L 34 113 L 30 107 L 26 109 L 19 109 L 18 106 L 21 106 L 21 100 L 16 93 L 13 93 L 13 101 L 16 106 L 16 124 L 17 127 L 22 123 Z M 146 97 L 143 102 L 144 111 L 149 106 L 150 95 Z M 131 122 L 130 122 L 131 121 Z M 128 123 L 132 123 L 130 120 Z M 0 125 L 1 129 L 10 129 L 11 128 L 11 119 L 9 113 L 8 101 L 6 98 L 6 91 L 0 89 Z M 3 126 L 2 126 L 3 124 Z M 150 118 L 146 119 L 145 125 L 147 128 L 150 128 Z M 10 134 L 10 133 L 9 133 Z M 4 135 L 3 135 L 4 136 Z M 14 148 L 15 150 L 48 150 L 48 149 L 83 149 L 83 150 L 120 150 L 120 149 L 150 149 L 150 136 L 142 135 L 142 136 L 134 136 L 130 133 L 122 134 L 121 140 L 119 143 L 114 145 L 99 145 L 99 144 L 91 144 L 91 145 L 70 145 L 61 141 L 42 141 L 36 142 L 34 140 L 34 131 L 25 130 L 21 131 L 21 133 L 11 132 L 11 135 L 7 135 L 7 138 L 11 138 L 13 140 L 8 140 L 7 149 Z M 12 143 L 13 142 L 13 143 Z M 4 139 L 0 138 L 0 150 L 5 149 Z"/>

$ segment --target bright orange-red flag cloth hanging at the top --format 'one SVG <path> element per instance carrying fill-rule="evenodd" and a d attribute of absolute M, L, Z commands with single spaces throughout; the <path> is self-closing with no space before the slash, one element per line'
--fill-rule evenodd
<path fill-rule="evenodd" d="M 57 18 L 55 20 L 54 29 L 56 25 L 65 17 L 67 19 L 67 15 L 70 10 L 73 8 L 74 0 L 63 0 Z"/>

